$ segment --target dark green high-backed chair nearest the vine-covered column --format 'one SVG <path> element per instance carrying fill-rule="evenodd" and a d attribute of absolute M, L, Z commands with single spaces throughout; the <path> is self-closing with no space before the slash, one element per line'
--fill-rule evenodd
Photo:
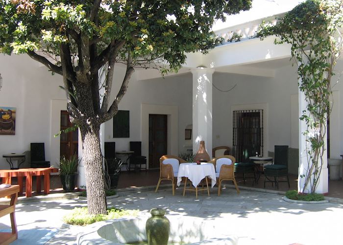
<path fill-rule="evenodd" d="M 275 146 L 274 147 L 274 164 L 265 166 L 265 182 L 270 182 L 271 185 L 275 183 L 277 189 L 279 189 L 279 182 L 287 182 L 290 187 L 290 180 L 288 177 L 288 146 Z M 286 176 L 287 181 L 279 180 L 279 177 Z M 274 179 L 270 179 L 274 178 Z"/>

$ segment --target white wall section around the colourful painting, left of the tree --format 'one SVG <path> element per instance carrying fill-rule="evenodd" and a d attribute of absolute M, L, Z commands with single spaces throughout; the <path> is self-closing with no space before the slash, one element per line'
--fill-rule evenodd
<path fill-rule="evenodd" d="M 44 142 L 46 160 L 50 161 L 50 100 L 65 98 L 58 87 L 62 85 L 62 77 L 52 76 L 27 55 L 1 55 L 0 73 L 3 84 L 0 106 L 16 107 L 16 132 L 0 135 L 0 156 L 29 150 L 31 142 Z M 0 168 L 9 168 L 2 157 Z"/>

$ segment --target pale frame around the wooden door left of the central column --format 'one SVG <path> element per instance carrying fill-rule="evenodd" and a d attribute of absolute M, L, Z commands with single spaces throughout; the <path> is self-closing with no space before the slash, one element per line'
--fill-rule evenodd
<path fill-rule="evenodd" d="M 141 104 L 141 112 L 142 155 L 147 156 L 147 163 L 149 162 L 149 114 L 167 115 L 167 152 L 170 155 L 177 156 L 179 139 L 178 106 Z"/>

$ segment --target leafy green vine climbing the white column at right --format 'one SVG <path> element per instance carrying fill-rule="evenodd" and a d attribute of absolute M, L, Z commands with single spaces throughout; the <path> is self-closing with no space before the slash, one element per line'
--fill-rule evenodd
<path fill-rule="evenodd" d="M 342 49 L 343 0 L 307 0 L 297 5 L 276 25 L 263 23 L 257 36 L 275 35 L 275 44 L 291 44 L 298 64 L 298 86 L 307 102 L 300 120 L 307 130 L 308 168 L 300 173 L 304 186 L 300 192 L 315 193 L 323 166 L 326 122 L 331 112 L 331 78 Z"/>

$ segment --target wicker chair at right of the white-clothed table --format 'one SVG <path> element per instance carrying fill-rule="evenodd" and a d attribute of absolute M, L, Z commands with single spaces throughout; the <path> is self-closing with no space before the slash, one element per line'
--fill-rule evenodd
<path fill-rule="evenodd" d="M 237 193 L 240 193 L 234 173 L 234 163 L 236 162 L 236 159 L 231 155 L 223 155 L 210 162 L 215 165 L 216 177 L 218 179 L 218 196 L 221 196 L 221 182 L 223 180 L 232 180 Z"/>

